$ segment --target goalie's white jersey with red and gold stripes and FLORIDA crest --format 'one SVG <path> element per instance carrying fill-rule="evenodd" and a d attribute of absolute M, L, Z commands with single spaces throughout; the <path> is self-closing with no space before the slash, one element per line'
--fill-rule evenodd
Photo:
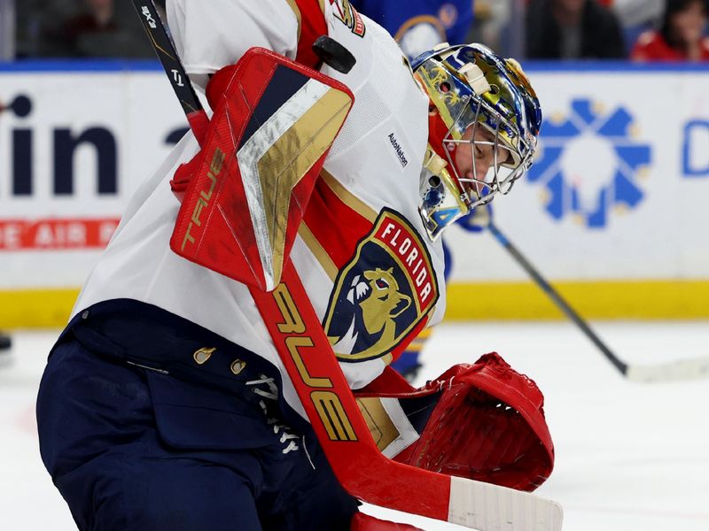
<path fill-rule="evenodd" d="M 347 0 L 173 0 L 168 24 L 192 81 L 236 63 L 252 46 L 308 57 L 314 28 L 356 58 L 347 74 L 323 73 L 354 93 L 292 248 L 292 261 L 353 389 L 374 380 L 445 307 L 443 252 L 417 212 L 428 137 L 428 99 L 386 31 Z M 153 304 L 266 358 L 285 400 L 305 416 L 244 284 L 169 248 L 180 204 L 175 169 L 199 150 L 189 134 L 136 190 L 74 315 L 129 298 Z"/>

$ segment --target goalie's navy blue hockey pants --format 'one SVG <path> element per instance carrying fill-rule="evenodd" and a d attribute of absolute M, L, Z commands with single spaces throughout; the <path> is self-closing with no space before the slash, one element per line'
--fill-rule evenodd
<path fill-rule="evenodd" d="M 259 404 L 102 357 L 71 333 L 52 350 L 37 420 L 82 530 L 348 529 L 356 512 L 314 435 L 284 453 Z"/>

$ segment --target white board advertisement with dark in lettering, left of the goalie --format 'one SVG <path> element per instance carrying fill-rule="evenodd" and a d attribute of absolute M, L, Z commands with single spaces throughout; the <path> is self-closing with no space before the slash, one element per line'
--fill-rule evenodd
<path fill-rule="evenodd" d="M 66 67 L 0 70 L 0 289 L 81 286 L 132 191 L 186 130 L 154 67 Z"/>

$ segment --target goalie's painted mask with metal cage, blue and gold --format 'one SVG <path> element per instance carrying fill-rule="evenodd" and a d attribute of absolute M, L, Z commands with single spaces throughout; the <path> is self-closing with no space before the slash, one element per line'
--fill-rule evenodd
<path fill-rule="evenodd" d="M 444 43 L 411 66 L 431 100 L 419 212 L 435 240 L 529 169 L 541 108 L 518 62 L 481 44 Z"/>

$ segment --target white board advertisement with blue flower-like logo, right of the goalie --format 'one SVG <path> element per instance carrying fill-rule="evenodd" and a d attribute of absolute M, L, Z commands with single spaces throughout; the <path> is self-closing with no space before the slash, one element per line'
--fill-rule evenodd
<path fill-rule="evenodd" d="M 709 67 L 605 68 L 528 72 L 541 149 L 495 222 L 557 281 L 709 279 Z M 447 241 L 454 280 L 527 278 L 487 233 Z"/>

